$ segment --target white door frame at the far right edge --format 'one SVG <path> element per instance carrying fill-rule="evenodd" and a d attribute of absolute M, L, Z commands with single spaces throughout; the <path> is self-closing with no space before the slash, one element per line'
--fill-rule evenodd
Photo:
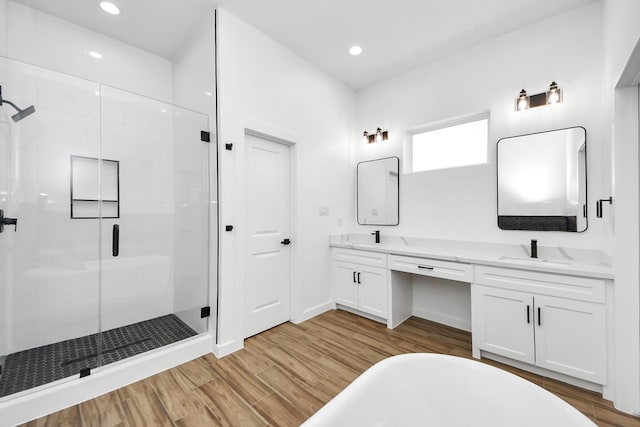
<path fill-rule="evenodd" d="M 610 326 L 616 409 L 640 414 L 640 42 L 614 88 L 613 252 L 615 286 Z M 626 143 L 625 143 L 626 142 Z M 624 232 L 622 232 L 624 230 Z M 605 389 L 606 390 L 606 389 Z"/>

